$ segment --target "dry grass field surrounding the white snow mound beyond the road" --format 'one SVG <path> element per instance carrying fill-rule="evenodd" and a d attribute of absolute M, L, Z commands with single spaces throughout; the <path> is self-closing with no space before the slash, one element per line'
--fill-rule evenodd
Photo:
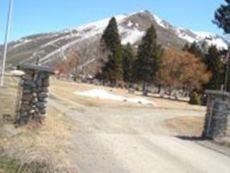
<path fill-rule="evenodd" d="M 113 91 L 115 94 L 123 95 L 126 97 L 135 97 L 141 96 L 140 92 L 135 92 L 135 94 L 129 94 L 126 89 L 121 88 L 110 88 L 104 86 L 97 86 L 91 84 L 83 84 L 83 83 L 75 83 L 75 82 L 65 82 L 59 81 L 56 79 L 51 80 L 51 92 L 55 95 L 60 96 L 61 98 L 65 99 L 65 101 L 71 100 L 75 103 L 79 103 L 81 105 L 86 106 L 112 106 L 112 107 L 141 107 L 141 104 L 131 104 L 127 102 L 118 102 L 113 100 L 103 100 L 103 99 L 96 99 L 96 98 L 87 98 L 73 94 L 75 91 L 87 91 L 91 89 L 104 89 L 106 91 Z M 184 109 L 184 110 L 195 110 L 195 111 L 205 111 L 206 108 L 202 106 L 194 106 L 190 105 L 187 102 L 175 101 L 175 100 L 167 100 L 162 98 L 156 98 L 150 95 L 147 97 L 149 101 L 153 102 L 153 107 L 155 108 L 164 108 L 164 109 Z M 146 107 L 146 106 L 145 106 Z M 150 106 L 151 108 L 151 106 Z"/>

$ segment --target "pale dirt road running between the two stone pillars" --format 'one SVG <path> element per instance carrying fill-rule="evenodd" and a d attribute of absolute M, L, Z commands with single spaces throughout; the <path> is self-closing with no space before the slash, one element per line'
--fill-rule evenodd
<path fill-rule="evenodd" d="M 50 104 L 76 122 L 72 158 L 79 173 L 229 173 L 230 157 L 167 128 L 204 109 L 79 104 L 53 90 Z M 66 93 L 65 93 L 66 94 Z M 70 93 L 69 93 L 70 94 Z M 82 98 L 81 98 L 82 99 Z M 183 134 L 184 135 L 184 134 Z M 191 134 L 188 134 L 191 135 Z"/>

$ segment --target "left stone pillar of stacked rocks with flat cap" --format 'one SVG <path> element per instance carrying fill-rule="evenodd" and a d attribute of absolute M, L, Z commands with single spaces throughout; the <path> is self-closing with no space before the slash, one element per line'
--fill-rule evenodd
<path fill-rule="evenodd" d="M 20 69 L 25 75 L 21 80 L 22 91 L 17 123 L 27 124 L 29 121 L 42 123 L 46 116 L 49 77 L 52 71 L 31 65 L 20 66 Z"/>

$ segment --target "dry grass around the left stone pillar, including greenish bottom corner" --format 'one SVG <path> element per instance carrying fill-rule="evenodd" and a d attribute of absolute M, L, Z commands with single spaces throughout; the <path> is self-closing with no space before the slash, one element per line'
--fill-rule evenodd
<path fill-rule="evenodd" d="M 7 79 L 8 87 L 0 90 L 0 114 L 14 115 L 16 82 Z M 9 97 L 10 96 L 10 97 Z M 15 128 L 0 126 L 0 173 L 74 173 L 72 144 L 68 143 L 76 124 L 53 107 L 40 127 L 30 124 Z M 4 171 L 3 171 L 4 170 Z"/>

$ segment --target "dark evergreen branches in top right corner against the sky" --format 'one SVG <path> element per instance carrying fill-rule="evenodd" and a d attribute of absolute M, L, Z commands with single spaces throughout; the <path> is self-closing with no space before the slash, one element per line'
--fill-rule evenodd
<path fill-rule="evenodd" d="M 222 28 L 226 34 L 230 33 L 230 0 L 225 0 L 226 4 L 221 5 L 215 12 L 214 23 Z"/>

